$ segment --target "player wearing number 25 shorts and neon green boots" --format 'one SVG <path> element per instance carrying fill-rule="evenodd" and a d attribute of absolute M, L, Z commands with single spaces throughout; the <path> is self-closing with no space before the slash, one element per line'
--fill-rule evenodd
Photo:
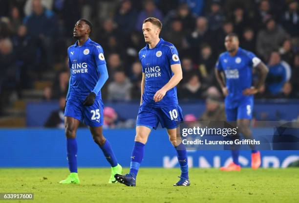
<path fill-rule="evenodd" d="M 67 160 L 70 175 L 60 181 L 63 184 L 79 184 L 77 172 L 76 133 L 80 121 L 89 126 L 96 144 L 99 145 L 111 165 L 109 183 L 117 182 L 115 174 L 122 173 L 122 167 L 103 135 L 103 103 L 101 88 L 108 79 L 108 72 L 101 45 L 91 41 L 92 24 L 79 20 L 74 27 L 73 37 L 77 42 L 68 47 L 68 64 L 71 72 L 64 112 Z"/>

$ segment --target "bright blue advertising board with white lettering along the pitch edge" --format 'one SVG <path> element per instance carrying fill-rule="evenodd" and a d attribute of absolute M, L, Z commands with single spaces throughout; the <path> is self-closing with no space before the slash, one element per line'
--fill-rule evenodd
<path fill-rule="evenodd" d="M 269 129 L 265 129 L 269 130 Z M 255 130 L 253 130 L 255 133 Z M 118 161 L 128 167 L 135 130 L 105 130 Z M 102 151 L 87 129 L 79 129 L 79 167 L 108 167 Z M 262 151 L 262 167 L 286 167 L 299 159 L 299 151 Z M 250 166 L 250 151 L 240 153 L 240 163 Z M 190 151 L 191 167 L 219 167 L 230 161 L 230 151 Z M 146 145 L 142 166 L 177 167 L 175 150 L 163 129 L 152 131 Z M 64 130 L 1 129 L 0 167 L 67 167 Z"/>

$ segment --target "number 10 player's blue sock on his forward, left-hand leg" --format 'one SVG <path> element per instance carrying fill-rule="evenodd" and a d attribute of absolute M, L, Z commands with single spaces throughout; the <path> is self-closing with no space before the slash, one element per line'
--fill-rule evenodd
<path fill-rule="evenodd" d="M 135 175 L 135 177 L 137 176 L 140 163 L 143 160 L 144 146 L 145 144 L 135 141 L 134 148 L 131 155 L 131 164 L 130 164 L 130 172 L 129 172 L 133 176 Z"/>

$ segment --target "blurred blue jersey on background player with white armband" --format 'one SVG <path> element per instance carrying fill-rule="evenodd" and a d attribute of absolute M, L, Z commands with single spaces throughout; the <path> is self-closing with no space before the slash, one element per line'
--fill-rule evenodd
<path fill-rule="evenodd" d="M 225 73 L 226 87 L 229 91 L 225 99 L 227 108 L 235 108 L 242 99 L 253 97 L 245 96 L 242 92 L 252 86 L 252 68 L 259 63 L 260 59 L 254 53 L 240 47 L 235 56 L 231 56 L 228 51 L 220 54 L 216 68 Z"/>

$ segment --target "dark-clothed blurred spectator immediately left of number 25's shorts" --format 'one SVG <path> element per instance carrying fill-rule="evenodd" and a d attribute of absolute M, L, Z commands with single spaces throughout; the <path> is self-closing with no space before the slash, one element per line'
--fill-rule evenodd
<path fill-rule="evenodd" d="M 51 112 L 50 116 L 44 124 L 44 127 L 64 129 L 65 96 L 61 96 L 58 102 L 59 109 Z"/>

